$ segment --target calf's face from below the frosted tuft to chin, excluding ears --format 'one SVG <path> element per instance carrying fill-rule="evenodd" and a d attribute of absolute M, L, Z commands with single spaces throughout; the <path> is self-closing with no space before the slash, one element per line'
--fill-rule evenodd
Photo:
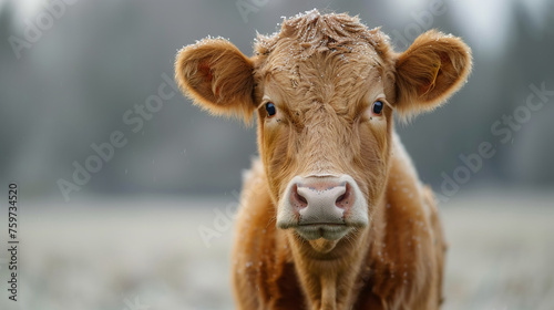
<path fill-rule="evenodd" d="M 392 84 L 369 42 L 319 52 L 301 44 L 276 42 L 256 71 L 260 154 L 277 226 L 337 240 L 369 225 L 383 192 Z"/>

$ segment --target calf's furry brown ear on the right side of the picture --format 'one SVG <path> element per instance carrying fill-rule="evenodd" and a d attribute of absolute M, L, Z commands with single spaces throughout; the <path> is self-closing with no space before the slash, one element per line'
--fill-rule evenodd
<path fill-rule="evenodd" d="M 465 83 L 471 66 L 471 49 L 460 38 L 422 33 L 397 60 L 398 111 L 410 116 L 439 106 Z"/>

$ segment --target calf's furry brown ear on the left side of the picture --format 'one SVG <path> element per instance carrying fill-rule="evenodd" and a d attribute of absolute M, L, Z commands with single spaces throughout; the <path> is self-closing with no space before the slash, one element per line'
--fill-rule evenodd
<path fill-rule="evenodd" d="M 185 46 L 175 60 L 175 80 L 194 104 L 245 121 L 256 107 L 253 71 L 252 61 L 224 39 L 204 39 Z"/>

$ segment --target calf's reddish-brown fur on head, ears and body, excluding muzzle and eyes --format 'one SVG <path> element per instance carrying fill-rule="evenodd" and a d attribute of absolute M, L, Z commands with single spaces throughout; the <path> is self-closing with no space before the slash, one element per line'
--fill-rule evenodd
<path fill-rule="evenodd" d="M 260 161 L 245 177 L 233 252 L 237 309 L 438 309 L 444 240 L 431 190 L 394 134 L 392 115 L 428 111 L 471 70 L 469 48 L 429 31 L 396 53 L 379 29 L 317 11 L 258 37 L 244 56 L 222 39 L 177 55 L 176 79 L 196 104 L 249 118 Z M 264 108 L 270 100 L 277 115 Z M 386 103 L 373 115 L 376 100 Z M 370 225 L 338 241 L 307 241 L 275 225 L 296 175 L 348 174 Z"/>

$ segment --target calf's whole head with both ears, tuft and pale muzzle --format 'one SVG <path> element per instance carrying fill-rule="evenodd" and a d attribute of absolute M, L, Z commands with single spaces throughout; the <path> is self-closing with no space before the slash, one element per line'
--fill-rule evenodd
<path fill-rule="evenodd" d="M 204 39 L 176 59 L 176 80 L 195 104 L 249 122 L 277 226 L 307 240 L 339 240 L 371 221 L 387 182 L 392 115 L 440 105 L 465 81 L 470 49 L 437 31 L 396 53 L 379 29 L 317 11 L 258 35 L 245 56 Z"/>

